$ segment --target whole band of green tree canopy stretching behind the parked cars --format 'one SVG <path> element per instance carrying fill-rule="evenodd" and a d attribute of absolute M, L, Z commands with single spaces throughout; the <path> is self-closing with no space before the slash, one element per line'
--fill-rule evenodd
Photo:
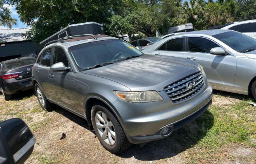
<path fill-rule="evenodd" d="M 256 15 L 256 0 L 6 0 L 16 6 L 26 34 L 40 42 L 68 24 L 98 22 L 112 36 L 166 34 L 192 23 L 203 30 Z M 3 2 L 3 0 L 1 0 Z M 9 19 L 10 20 L 10 19 Z"/>

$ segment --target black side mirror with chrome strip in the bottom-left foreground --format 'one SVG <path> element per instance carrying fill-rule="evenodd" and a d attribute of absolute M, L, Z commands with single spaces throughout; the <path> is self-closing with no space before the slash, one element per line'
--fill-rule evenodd
<path fill-rule="evenodd" d="M 0 123 L 0 164 L 24 163 L 32 154 L 36 138 L 18 118 Z"/>

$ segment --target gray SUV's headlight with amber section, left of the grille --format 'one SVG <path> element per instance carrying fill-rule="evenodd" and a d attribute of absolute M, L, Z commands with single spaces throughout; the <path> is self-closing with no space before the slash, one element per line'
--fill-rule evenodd
<path fill-rule="evenodd" d="M 164 100 L 156 91 L 144 91 L 144 92 L 123 92 L 114 91 L 116 96 L 129 102 L 152 102 Z"/>

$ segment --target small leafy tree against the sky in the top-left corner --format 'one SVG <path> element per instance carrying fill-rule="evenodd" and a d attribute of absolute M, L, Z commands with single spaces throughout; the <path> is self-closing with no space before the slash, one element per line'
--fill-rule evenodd
<path fill-rule="evenodd" d="M 4 6 L 5 4 L 5 0 L 0 0 L 0 26 L 12 28 L 12 25 L 16 24 L 17 20 L 11 17 L 11 11 Z"/>

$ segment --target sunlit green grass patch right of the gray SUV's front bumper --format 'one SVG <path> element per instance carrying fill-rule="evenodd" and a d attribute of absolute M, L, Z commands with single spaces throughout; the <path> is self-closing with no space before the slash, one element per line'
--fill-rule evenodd
<path fill-rule="evenodd" d="M 241 144 L 256 147 L 256 108 L 248 105 L 250 99 L 241 102 L 209 108 L 209 112 L 199 117 L 195 122 L 201 126 L 195 140 L 199 140 L 188 150 L 188 163 L 191 161 L 212 162 L 218 159 L 214 154 L 223 151 L 230 144 Z M 211 119 L 214 119 L 213 124 Z M 232 160 L 232 156 L 230 156 Z M 193 163 L 193 162 L 192 162 Z"/>

